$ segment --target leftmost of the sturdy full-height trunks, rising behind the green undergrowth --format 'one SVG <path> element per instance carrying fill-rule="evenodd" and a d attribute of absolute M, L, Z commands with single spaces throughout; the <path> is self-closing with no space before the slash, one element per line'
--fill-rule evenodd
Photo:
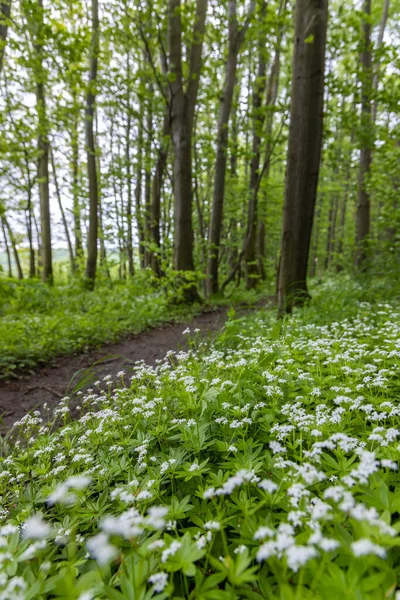
<path fill-rule="evenodd" d="M 36 109 L 38 114 L 38 181 L 40 196 L 40 234 L 42 250 L 42 279 L 53 282 L 53 264 L 51 251 L 51 220 L 49 190 L 49 126 L 46 114 L 45 73 L 43 67 L 43 0 L 38 0 L 38 28 L 34 43 L 36 67 Z"/>

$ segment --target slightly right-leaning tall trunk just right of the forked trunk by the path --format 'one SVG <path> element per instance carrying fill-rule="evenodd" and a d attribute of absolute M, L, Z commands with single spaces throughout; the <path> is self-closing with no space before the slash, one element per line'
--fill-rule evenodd
<path fill-rule="evenodd" d="M 251 6 L 251 10 L 254 6 Z M 214 190 L 209 231 L 209 251 L 207 262 L 207 294 L 211 296 L 219 290 L 218 266 L 219 246 L 224 209 L 225 175 L 227 165 L 229 118 L 236 84 L 236 70 L 240 47 L 246 28 L 239 28 L 236 16 L 236 0 L 228 2 L 228 57 L 225 66 L 225 82 L 219 107 L 217 153 L 215 159 Z M 235 159 L 236 160 L 236 157 Z M 232 165 L 231 165 L 232 168 Z M 235 168 L 235 166 L 233 167 Z"/>

